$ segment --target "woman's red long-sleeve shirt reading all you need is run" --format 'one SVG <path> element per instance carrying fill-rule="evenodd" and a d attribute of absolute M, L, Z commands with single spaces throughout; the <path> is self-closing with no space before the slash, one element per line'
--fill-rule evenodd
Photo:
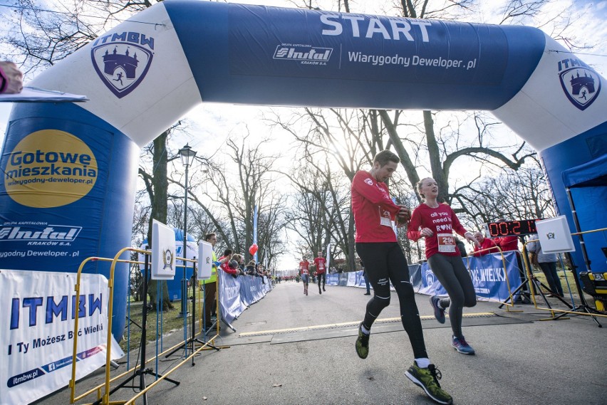
<path fill-rule="evenodd" d="M 455 212 L 447 204 L 439 204 L 432 208 L 421 204 L 413 210 L 409 222 L 407 237 L 412 241 L 422 237 L 420 230 L 430 228 L 432 236 L 425 238 L 426 258 L 440 253 L 446 256 L 460 256 L 460 251 L 455 247 L 453 231 L 464 235 L 466 228 L 457 219 Z"/>

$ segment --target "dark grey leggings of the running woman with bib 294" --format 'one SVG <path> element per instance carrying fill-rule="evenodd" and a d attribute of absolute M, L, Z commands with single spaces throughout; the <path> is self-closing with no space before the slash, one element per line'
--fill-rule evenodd
<path fill-rule="evenodd" d="M 474 291 L 472 278 L 464 261 L 460 256 L 446 256 L 436 253 L 428 258 L 428 265 L 432 273 L 440 281 L 440 284 L 447 290 L 449 299 L 442 298 L 440 306 L 449 307 L 449 321 L 453 336 L 457 338 L 462 335 L 462 317 L 464 307 L 474 307 L 477 305 L 477 293 Z"/>

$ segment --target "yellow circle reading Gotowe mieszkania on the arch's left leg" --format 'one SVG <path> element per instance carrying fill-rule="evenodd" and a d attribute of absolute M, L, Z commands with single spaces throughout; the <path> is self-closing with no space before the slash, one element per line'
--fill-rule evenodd
<path fill-rule="evenodd" d="M 34 208 L 78 201 L 97 181 L 95 155 L 79 138 L 58 130 L 32 132 L 19 142 L 4 169 L 11 199 Z"/>

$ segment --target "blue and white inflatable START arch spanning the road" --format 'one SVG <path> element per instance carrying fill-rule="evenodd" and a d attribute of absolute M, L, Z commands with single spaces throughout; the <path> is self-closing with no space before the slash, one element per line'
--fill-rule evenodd
<path fill-rule="evenodd" d="M 76 271 L 130 245 L 140 147 L 207 101 L 490 110 L 539 150 L 572 225 L 561 174 L 606 154 L 604 80 L 536 28 L 163 1 L 32 83 L 90 101 L 14 108 L 0 159 L 1 267 Z M 607 223 L 604 189 L 588 228 Z M 597 270 L 604 245 L 588 243 Z M 126 281 L 122 272 L 117 305 Z"/>

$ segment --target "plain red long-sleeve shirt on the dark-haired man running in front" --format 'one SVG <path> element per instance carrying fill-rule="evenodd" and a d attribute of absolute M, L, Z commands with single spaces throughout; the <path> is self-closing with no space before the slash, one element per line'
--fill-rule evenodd
<path fill-rule="evenodd" d="M 392 221 L 400 207 L 390 199 L 388 185 L 361 170 L 352 180 L 352 211 L 356 242 L 395 242 Z"/>

